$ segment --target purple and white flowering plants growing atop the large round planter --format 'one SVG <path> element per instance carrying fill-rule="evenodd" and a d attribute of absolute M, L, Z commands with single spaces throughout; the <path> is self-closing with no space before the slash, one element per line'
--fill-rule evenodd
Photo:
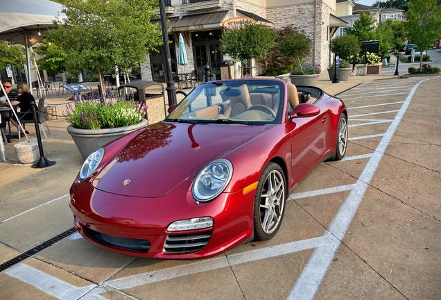
<path fill-rule="evenodd" d="M 116 101 L 101 103 L 99 99 L 78 99 L 74 106 L 67 104 L 67 122 L 74 128 L 103 129 L 135 125 L 146 115 L 147 106 L 123 97 Z"/>

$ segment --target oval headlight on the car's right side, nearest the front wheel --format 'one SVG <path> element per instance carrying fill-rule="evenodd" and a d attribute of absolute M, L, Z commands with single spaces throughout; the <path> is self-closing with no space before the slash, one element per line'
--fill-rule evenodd
<path fill-rule="evenodd" d="M 233 165 L 229 160 L 220 158 L 203 168 L 193 182 L 191 192 L 198 201 L 210 201 L 218 196 L 230 183 Z"/>

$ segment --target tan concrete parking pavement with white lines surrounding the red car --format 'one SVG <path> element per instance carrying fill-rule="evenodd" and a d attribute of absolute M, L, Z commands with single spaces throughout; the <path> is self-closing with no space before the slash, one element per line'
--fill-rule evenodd
<path fill-rule="evenodd" d="M 299 185 L 272 240 L 169 261 L 74 233 L 1 272 L 0 299 L 439 299 L 441 78 L 356 77 L 320 79 L 331 94 L 345 91 L 346 158 Z M 67 193 L 83 162 L 64 119 L 49 126 L 54 166 L 0 163 L 2 262 L 73 226 Z"/>

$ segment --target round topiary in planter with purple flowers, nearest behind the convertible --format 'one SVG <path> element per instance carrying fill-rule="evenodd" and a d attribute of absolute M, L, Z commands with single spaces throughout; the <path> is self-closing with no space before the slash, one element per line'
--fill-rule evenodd
<path fill-rule="evenodd" d="M 286 35 L 279 43 L 279 51 L 284 56 L 294 58 L 294 69 L 289 78 L 295 85 L 317 85 L 322 69 L 320 65 L 305 64 L 304 58 L 311 49 L 311 40 L 303 33 Z"/>

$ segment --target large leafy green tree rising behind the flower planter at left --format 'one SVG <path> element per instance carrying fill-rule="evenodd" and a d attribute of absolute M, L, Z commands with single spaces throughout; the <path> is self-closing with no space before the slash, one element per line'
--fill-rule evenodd
<path fill-rule="evenodd" d="M 162 44 L 162 33 L 150 19 L 157 17 L 158 0 L 59 0 L 66 17 L 55 22 L 49 38 L 67 54 L 73 71 L 97 72 L 105 94 L 103 72 L 115 65 L 137 67 Z M 128 59 L 130 58 L 130 59 Z"/>

